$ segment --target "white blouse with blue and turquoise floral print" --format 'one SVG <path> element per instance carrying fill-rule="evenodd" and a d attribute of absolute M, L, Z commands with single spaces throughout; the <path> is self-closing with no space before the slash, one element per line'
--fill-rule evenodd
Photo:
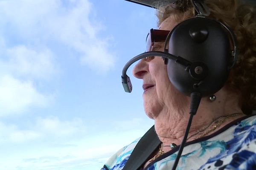
<path fill-rule="evenodd" d="M 101 170 L 122 170 L 140 139 L 113 155 Z M 178 147 L 145 170 L 171 170 Z M 187 142 L 176 170 L 256 170 L 256 116 L 245 116 L 215 133 Z"/>

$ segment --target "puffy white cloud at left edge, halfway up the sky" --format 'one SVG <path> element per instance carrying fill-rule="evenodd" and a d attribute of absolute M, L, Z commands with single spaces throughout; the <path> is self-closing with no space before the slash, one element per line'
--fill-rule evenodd
<path fill-rule="evenodd" d="M 25 45 L 6 47 L 0 40 L 0 116 L 26 113 L 32 107 L 46 107 L 53 95 L 38 91 L 35 80 L 58 72 L 49 49 L 36 51 Z"/>

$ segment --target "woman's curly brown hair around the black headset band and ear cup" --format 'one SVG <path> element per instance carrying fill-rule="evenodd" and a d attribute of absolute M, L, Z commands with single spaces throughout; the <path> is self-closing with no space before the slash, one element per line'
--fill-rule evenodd
<path fill-rule="evenodd" d="M 239 0 L 205 0 L 211 14 L 209 17 L 225 23 L 236 34 L 239 56 L 230 71 L 227 87 L 241 94 L 240 105 L 245 114 L 256 110 L 256 7 Z M 190 0 L 159 4 L 157 18 L 159 26 L 166 18 L 181 22 L 195 16 Z"/>

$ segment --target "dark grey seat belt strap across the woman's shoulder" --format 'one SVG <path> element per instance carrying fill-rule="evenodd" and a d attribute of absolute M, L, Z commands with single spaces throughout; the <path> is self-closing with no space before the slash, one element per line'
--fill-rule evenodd
<path fill-rule="evenodd" d="M 123 170 L 139 170 L 160 143 L 155 128 L 152 126 L 135 146 Z"/>

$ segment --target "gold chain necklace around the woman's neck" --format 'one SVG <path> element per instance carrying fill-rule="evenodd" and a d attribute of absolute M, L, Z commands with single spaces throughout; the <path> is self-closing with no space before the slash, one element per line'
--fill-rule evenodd
<path fill-rule="evenodd" d="M 220 119 L 217 123 L 215 123 L 215 125 L 212 126 L 212 128 L 210 130 L 207 130 L 204 132 L 203 135 L 201 135 L 200 137 L 203 137 L 203 136 L 206 136 L 208 133 L 216 130 L 222 123 L 226 122 L 226 119 L 230 118 L 230 117 L 233 117 L 233 116 L 238 116 L 238 115 L 242 115 L 243 113 L 233 113 L 233 114 L 230 114 L 230 115 L 227 115 L 227 116 L 220 116 L 218 117 L 217 119 L 213 120 L 209 125 L 207 125 L 206 127 L 204 127 L 203 129 L 201 130 L 198 130 L 198 132 L 192 134 L 191 136 L 189 136 L 189 138 L 187 139 L 190 139 L 191 137 L 197 135 L 198 133 L 200 132 L 203 132 L 204 130 L 206 130 L 210 125 L 212 125 L 213 122 L 216 122 L 218 119 L 220 119 L 222 117 L 222 119 Z M 173 143 L 174 144 L 174 143 Z M 176 144 L 174 144 L 175 146 L 177 146 Z M 163 143 L 161 143 L 161 146 L 158 150 L 158 153 L 151 159 L 149 159 L 148 161 L 154 161 L 155 159 L 157 159 L 157 157 L 163 155 L 165 152 L 162 150 L 163 147 L 169 147 L 170 145 L 163 145 Z"/>

